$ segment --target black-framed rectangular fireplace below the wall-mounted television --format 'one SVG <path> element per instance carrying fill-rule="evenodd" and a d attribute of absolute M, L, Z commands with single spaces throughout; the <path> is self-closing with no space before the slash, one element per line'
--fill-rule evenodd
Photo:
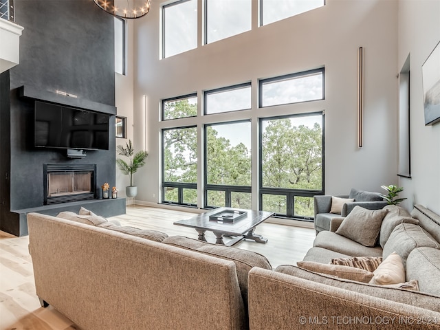
<path fill-rule="evenodd" d="M 44 204 L 95 198 L 96 164 L 45 164 Z"/>

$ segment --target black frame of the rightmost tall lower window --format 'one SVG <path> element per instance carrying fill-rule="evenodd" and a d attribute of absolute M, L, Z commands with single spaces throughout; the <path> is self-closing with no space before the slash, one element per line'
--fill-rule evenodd
<path fill-rule="evenodd" d="M 274 217 L 298 219 L 302 221 L 314 221 L 314 217 L 307 217 L 295 214 L 294 198 L 295 197 L 314 197 L 315 195 L 325 195 L 325 111 L 315 111 L 309 113 L 295 113 L 292 115 L 275 115 L 271 117 L 259 118 L 259 127 L 263 127 L 263 121 L 274 119 L 285 119 L 294 117 L 306 117 L 312 115 L 321 115 L 322 122 L 322 168 L 321 168 L 321 189 L 309 190 L 309 189 L 293 189 L 293 188 L 274 188 L 263 187 L 263 129 L 259 130 L 259 210 L 263 210 L 263 195 L 283 195 L 287 200 L 287 214 L 275 214 Z"/>

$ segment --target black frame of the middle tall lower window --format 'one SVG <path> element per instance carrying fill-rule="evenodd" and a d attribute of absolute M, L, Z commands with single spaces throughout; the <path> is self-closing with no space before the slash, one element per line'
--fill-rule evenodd
<path fill-rule="evenodd" d="M 208 184 L 208 136 L 206 129 L 208 126 L 217 126 L 223 124 L 236 124 L 239 122 L 251 122 L 251 120 L 232 120 L 229 122 L 213 122 L 210 124 L 203 125 L 203 208 L 206 209 L 214 209 L 217 206 L 208 205 L 208 190 L 217 190 L 225 192 L 225 207 L 231 207 L 231 192 L 250 192 L 252 194 L 252 181 L 250 186 L 232 186 L 226 184 Z M 252 140 L 252 131 L 251 131 L 251 140 Z M 251 180 L 252 180 L 252 151 L 251 151 Z M 252 197 L 251 197 L 252 198 Z"/>

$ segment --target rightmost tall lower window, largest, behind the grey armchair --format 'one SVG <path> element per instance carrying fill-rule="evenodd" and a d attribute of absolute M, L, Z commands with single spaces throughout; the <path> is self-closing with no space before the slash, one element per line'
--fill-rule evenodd
<path fill-rule="evenodd" d="M 260 120 L 260 201 L 288 217 L 314 216 L 313 196 L 324 192 L 322 113 Z"/>

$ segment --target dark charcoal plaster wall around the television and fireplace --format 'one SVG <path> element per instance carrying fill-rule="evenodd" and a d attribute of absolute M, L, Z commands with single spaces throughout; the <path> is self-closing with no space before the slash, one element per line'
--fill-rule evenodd
<path fill-rule="evenodd" d="M 60 90 L 114 107 L 113 17 L 91 0 L 15 0 L 15 16 L 24 30 L 10 69 L 10 210 L 43 205 L 43 164 L 96 164 L 97 185 L 114 185 L 114 116 L 109 151 L 70 159 L 64 149 L 34 148 L 34 101 L 19 95 L 25 86 L 60 99 Z"/>

